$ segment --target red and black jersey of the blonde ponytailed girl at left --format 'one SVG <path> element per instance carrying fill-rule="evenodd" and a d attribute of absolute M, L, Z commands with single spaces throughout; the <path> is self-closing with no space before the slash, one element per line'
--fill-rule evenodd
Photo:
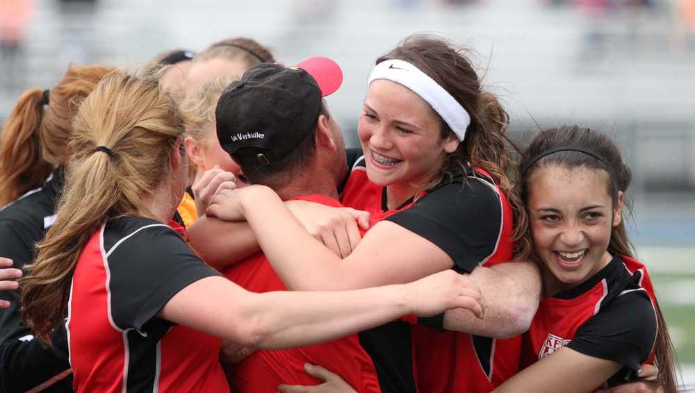
<path fill-rule="evenodd" d="M 229 392 L 222 340 L 156 317 L 174 294 L 218 273 L 170 226 L 108 221 L 77 262 L 68 304 L 77 392 Z"/>

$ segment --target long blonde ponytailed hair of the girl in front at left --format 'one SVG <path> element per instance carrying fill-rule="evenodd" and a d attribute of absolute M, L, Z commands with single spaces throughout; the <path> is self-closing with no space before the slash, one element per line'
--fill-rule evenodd
<path fill-rule="evenodd" d="M 171 177 L 171 160 L 179 153 L 174 146 L 183 134 L 183 118 L 158 76 L 115 71 L 77 112 L 58 219 L 22 282 L 24 321 L 44 340 L 63 321 L 81 251 L 104 220 L 154 218 L 143 200 Z"/>

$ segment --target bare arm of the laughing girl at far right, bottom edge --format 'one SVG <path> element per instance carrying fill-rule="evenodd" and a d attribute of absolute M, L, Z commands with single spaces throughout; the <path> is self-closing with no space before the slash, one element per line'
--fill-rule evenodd
<path fill-rule="evenodd" d="M 516 374 L 494 392 L 593 392 L 620 368 L 617 362 L 565 347 Z"/>

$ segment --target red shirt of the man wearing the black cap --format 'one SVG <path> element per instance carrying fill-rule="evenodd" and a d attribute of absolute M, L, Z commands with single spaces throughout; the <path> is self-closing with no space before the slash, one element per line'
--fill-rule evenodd
<path fill-rule="evenodd" d="M 342 207 L 321 195 L 295 199 Z M 256 253 L 227 269 L 224 276 L 251 292 L 285 291 L 270 262 Z M 381 392 L 374 364 L 359 344 L 357 335 L 349 335 L 325 344 L 302 346 L 279 351 L 256 351 L 239 365 L 230 367 L 234 392 L 275 392 L 281 383 L 318 385 L 321 383 L 304 371 L 304 363 L 321 365 L 340 375 L 358 392 Z"/>

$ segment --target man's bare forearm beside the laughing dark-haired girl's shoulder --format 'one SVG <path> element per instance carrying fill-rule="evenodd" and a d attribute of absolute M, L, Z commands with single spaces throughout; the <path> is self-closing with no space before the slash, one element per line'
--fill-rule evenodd
<path fill-rule="evenodd" d="M 446 330 L 496 338 L 528 331 L 541 299 L 541 274 L 535 263 L 476 267 L 469 278 L 480 287 L 487 306 L 485 318 L 474 318 L 465 310 L 450 310 L 444 315 Z"/>

